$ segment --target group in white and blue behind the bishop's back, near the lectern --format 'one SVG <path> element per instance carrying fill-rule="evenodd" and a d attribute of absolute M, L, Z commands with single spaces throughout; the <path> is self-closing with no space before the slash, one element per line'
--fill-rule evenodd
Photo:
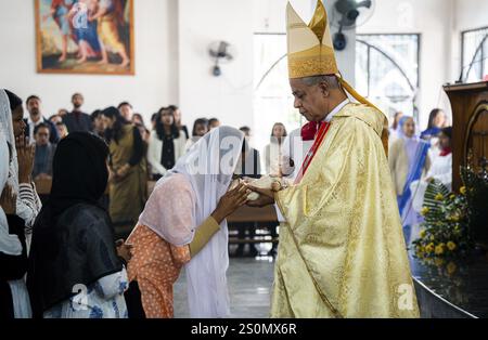
<path fill-rule="evenodd" d="M 422 133 L 418 133 L 413 117 L 402 113 L 395 115 L 389 129 L 388 162 L 407 244 L 419 235 L 428 183 L 437 180 L 451 189 L 452 128 L 448 125 L 446 113 L 435 108 Z"/>

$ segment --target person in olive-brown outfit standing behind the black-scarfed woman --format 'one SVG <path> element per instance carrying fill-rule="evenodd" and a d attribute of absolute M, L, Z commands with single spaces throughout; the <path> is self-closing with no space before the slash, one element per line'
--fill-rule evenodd
<path fill-rule="evenodd" d="M 115 107 L 103 110 L 106 141 L 111 152 L 108 212 L 117 237 L 127 236 L 136 225 L 147 197 L 144 143 L 139 129 Z"/>

